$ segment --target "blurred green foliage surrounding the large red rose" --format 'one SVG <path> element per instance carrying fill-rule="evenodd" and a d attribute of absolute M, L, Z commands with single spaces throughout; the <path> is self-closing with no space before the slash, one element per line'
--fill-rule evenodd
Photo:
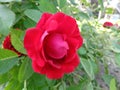
<path fill-rule="evenodd" d="M 83 11 L 78 3 L 83 3 L 85 9 L 90 7 L 87 0 L 0 0 L 0 85 L 4 90 L 102 90 L 97 81 L 101 70 L 103 77 L 100 78 L 110 90 L 117 90 L 118 81 L 110 74 L 108 63 L 113 61 L 120 68 L 120 29 L 103 28 L 92 10 Z M 97 9 L 103 11 L 103 1 L 99 3 L 101 7 Z M 33 72 L 28 57 L 18 57 L 3 49 L 2 41 L 10 33 L 14 48 L 26 54 L 23 47 L 25 30 L 34 27 L 43 12 L 58 11 L 76 18 L 84 44 L 78 50 L 79 67 L 61 80 L 49 80 Z"/>

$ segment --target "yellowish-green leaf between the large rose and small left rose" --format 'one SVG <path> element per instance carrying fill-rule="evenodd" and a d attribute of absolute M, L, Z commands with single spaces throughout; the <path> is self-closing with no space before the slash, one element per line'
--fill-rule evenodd
<path fill-rule="evenodd" d="M 14 48 L 23 53 L 26 54 L 26 51 L 24 49 L 24 45 L 23 45 L 23 41 L 21 40 L 21 38 L 24 37 L 24 32 L 20 31 L 20 30 L 12 30 L 11 31 L 11 41 L 12 41 L 12 45 L 14 46 Z"/>

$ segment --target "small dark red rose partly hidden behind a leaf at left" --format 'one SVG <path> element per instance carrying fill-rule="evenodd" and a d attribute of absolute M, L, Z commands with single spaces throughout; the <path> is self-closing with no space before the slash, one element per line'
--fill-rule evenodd
<path fill-rule="evenodd" d="M 4 41 L 3 41 L 3 48 L 4 49 L 9 49 L 12 50 L 14 52 L 16 52 L 18 54 L 18 56 L 21 56 L 22 54 L 20 52 L 18 52 L 12 45 L 11 43 L 11 38 L 10 35 L 6 36 Z"/>

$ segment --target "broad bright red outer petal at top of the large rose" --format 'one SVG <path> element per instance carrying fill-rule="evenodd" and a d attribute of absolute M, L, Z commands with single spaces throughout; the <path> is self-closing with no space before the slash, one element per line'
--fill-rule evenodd
<path fill-rule="evenodd" d="M 57 30 L 56 32 L 66 33 L 67 35 L 71 35 L 76 28 L 75 19 L 73 19 L 70 16 L 65 15 L 62 12 L 58 12 L 54 14 L 53 16 L 51 16 L 46 22 L 47 25 L 51 21 L 54 21 L 54 23 L 57 22 L 54 25 L 54 27 L 56 27 L 56 30 Z M 47 27 L 47 25 L 45 26 Z M 55 30 L 55 28 L 53 30 Z"/>

